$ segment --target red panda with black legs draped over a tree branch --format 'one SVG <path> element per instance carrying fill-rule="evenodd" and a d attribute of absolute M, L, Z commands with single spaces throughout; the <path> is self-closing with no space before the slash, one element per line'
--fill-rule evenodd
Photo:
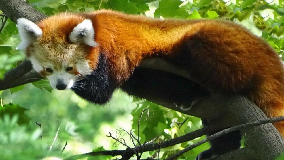
<path fill-rule="evenodd" d="M 18 49 L 25 49 L 33 68 L 53 88 L 72 89 L 90 102 L 106 103 L 143 58 L 160 57 L 188 70 L 210 92 L 241 93 L 268 117 L 284 116 L 279 56 L 232 22 L 161 20 L 99 10 L 61 13 L 37 24 L 20 18 L 18 30 Z M 284 136 L 284 123 L 274 126 Z M 233 148 L 239 147 L 240 138 Z M 214 152 L 211 148 L 197 159 Z"/>

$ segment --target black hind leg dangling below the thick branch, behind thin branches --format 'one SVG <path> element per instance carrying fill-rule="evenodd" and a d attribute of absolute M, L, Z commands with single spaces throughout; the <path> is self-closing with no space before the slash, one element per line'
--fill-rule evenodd
<path fill-rule="evenodd" d="M 203 126 L 208 126 L 208 121 L 202 119 L 202 124 Z M 207 136 L 213 135 L 217 132 L 219 131 L 212 132 Z M 201 152 L 195 158 L 195 160 L 210 159 L 214 156 L 222 155 L 231 150 L 236 150 L 241 147 L 241 139 L 242 134 L 240 131 L 234 131 L 232 133 L 228 133 L 226 135 L 213 139 L 212 141 L 210 141 L 211 148 Z"/>

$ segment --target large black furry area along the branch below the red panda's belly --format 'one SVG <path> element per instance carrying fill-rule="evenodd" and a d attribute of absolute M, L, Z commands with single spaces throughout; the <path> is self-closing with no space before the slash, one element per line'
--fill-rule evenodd
<path fill-rule="evenodd" d="M 152 102 L 167 101 L 177 106 L 190 104 L 209 92 L 186 78 L 151 69 L 135 69 L 121 86 L 130 95 Z"/>

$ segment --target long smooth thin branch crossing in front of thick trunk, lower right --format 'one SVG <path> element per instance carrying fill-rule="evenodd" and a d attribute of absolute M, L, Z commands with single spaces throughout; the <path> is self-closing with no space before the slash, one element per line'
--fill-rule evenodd
<path fill-rule="evenodd" d="M 218 133 L 215 133 L 211 136 L 206 137 L 205 139 L 197 142 L 196 144 L 193 144 L 191 146 L 189 146 L 188 148 L 185 148 L 179 152 L 177 152 L 176 154 L 172 155 L 171 157 L 166 158 L 165 160 L 173 160 L 176 159 L 177 157 L 183 155 L 185 152 L 188 152 L 190 150 L 192 150 L 193 148 L 200 146 L 201 144 L 208 142 L 210 140 L 216 139 L 218 137 L 221 137 L 222 135 L 226 135 L 228 133 L 234 132 L 234 131 L 238 131 L 244 128 L 249 128 L 249 127 L 253 127 L 253 126 L 259 126 L 262 124 L 266 124 L 266 123 L 272 123 L 272 122 L 279 122 L 279 121 L 284 121 L 284 116 L 281 117 L 273 117 L 273 118 L 267 118 L 267 119 L 263 119 L 263 120 L 258 120 L 255 122 L 249 122 L 249 123 L 245 123 L 245 124 L 241 124 L 238 126 L 233 126 L 227 129 L 224 129 Z"/>

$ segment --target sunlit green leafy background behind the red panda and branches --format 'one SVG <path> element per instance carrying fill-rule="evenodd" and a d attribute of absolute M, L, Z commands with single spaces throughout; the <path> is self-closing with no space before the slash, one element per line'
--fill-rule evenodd
<path fill-rule="evenodd" d="M 284 54 L 284 0 L 27 0 L 27 2 L 46 15 L 65 11 L 92 12 L 106 8 L 155 18 L 227 19 L 244 25 L 254 34 L 264 38 L 280 57 Z M 24 54 L 15 50 L 19 42 L 16 25 L 8 20 L 0 34 L 0 78 L 24 59 Z M 133 129 L 137 134 L 137 121 L 144 108 L 149 109 L 149 117 L 143 117 L 141 120 L 141 142 L 149 141 L 158 135 L 158 139 L 163 141 L 202 127 L 199 118 L 130 97 L 120 90 L 116 91 L 111 102 L 104 106 L 87 103 L 71 91 L 52 90 L 47 81 L 0 91 L 0 95 L 1 159 L 32 160 L 52 156 L 66 158 L 92 150 L 125 149 L 121 145 L 113 144 L 114 141 L 106 135 L 109 132 L 115 133 L 119 127 L 126 131 Z M 184 121 L 185 123 L 180 126 L 179 124 Z M 41 129 L 35 122 L 41 124 Z M 162 149 L 159 156 L 162 159 L 166 158 L 203 138 Z M 65 142 L 67 142 L 66 149 L 60 154 Z M 131 146 L 130 142 L 128 144 Z M 207 148 L 209 144 L 203 144 L 179 159 L 194 159 L 198 153 Z M 144 153 L 143 157 L 151 157 L 154 153 Z M 88 159 L 109 159 L 109 157 Z"/>

